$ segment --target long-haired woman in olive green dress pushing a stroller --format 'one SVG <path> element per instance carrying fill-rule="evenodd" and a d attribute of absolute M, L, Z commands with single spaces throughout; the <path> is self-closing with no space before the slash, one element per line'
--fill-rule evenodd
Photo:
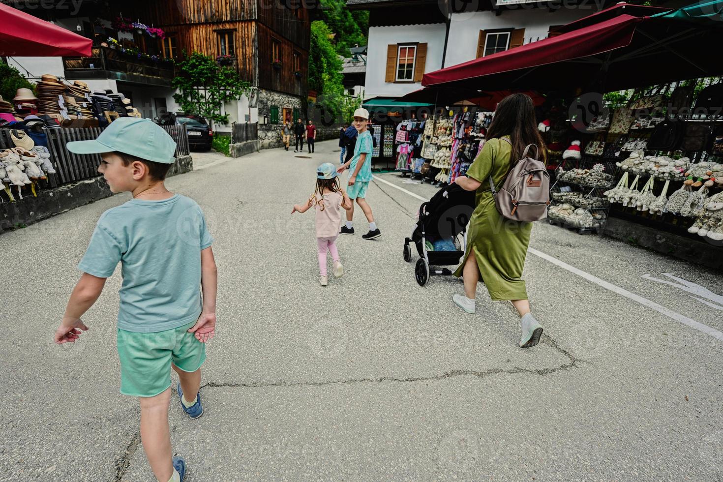
<path fill-rule="evenodd" d="M 453 300 L 467 313 L 474 313 L 477 283 L 482 278 L 492 300 L 509 300 L 515 306 L 522 324 L 519 345 L 529 348 L 542 335 L 542 326 L 530 313 L 521 279 L 532 223 L 502 218 L 489 186 L 490 176 L 498 189 L 502 186 L 526 145 L 536 144 L 546 155 L 529 95 L 508 95 L 497 104 L 486 139 L 467 175 L 455 179 L 463 189 L 476 191 L 476 208 L 469 220 L 465 258 L 454 273 L 463 277 L 465 296 L 454 295 Z"/>

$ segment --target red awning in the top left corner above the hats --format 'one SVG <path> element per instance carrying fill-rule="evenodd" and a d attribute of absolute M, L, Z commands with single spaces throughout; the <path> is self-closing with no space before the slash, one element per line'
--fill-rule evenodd
<path fill-rule="evenodd" d="M 90 56 L 93 40 L 0 4 L 0 56 Z"/>

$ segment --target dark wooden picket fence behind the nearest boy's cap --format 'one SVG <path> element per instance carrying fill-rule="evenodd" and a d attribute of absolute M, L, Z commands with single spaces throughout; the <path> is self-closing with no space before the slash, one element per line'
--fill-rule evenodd
<path fill-rule="evenodd" d="M 162 126 L 176 141 L 176 157 L 189 155 L 188 134 L 185 126 Z M 73 154 L 67 150 L 66 143 L 97 139 L 103 129 L 100 127 L 63 129 L 43 129 L 48 137 L 48 150 L 51 154 L 56 174 L 48 176 L 48 186 L 57 187 L 85 179 L 100 176 L 99 154 Z M 0 150 L 14 147 L 10 139 L 10 129 L 0 129 Z"/>

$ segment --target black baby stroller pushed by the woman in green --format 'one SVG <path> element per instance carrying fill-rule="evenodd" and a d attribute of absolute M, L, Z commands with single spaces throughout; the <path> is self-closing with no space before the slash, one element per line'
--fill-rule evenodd
<path fill-rule="evenodd" d="M 419 207 L 419 220 L 411 238 L 404 239 L 404 261 L 411 261 L 409 243 L 414 242 L 419 253 L 414 276 L 420 286 L 427 284 L 430 275 L 452 274 L 447 268 L 430 271 L 430 264 L 456 265 L 464 256 L 466 225 L 475 207 L 474 192 L 452 184 L 437 191 L 432 199 Z M 463 235 L 461 243 L 458 239 L 460 234 Z"/>

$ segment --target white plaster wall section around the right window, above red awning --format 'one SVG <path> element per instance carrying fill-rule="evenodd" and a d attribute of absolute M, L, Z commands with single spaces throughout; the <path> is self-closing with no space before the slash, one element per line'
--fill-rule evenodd
<path fill-rule="evenodd" d="M 445 67 L 476 58 L 479 30 L 524 28 L 524 43 L 530 43 L 547 38 L 550 25 L 565 25 L 596 12 L 592 6 L 560 8 L 554 12 L 537 7 L 534 9 L 525 7 L 527 8 L 521 6 L 519 9 L 506 10 L 500 15 L 495 15 L 495 12 L 452 14 Z"/>

